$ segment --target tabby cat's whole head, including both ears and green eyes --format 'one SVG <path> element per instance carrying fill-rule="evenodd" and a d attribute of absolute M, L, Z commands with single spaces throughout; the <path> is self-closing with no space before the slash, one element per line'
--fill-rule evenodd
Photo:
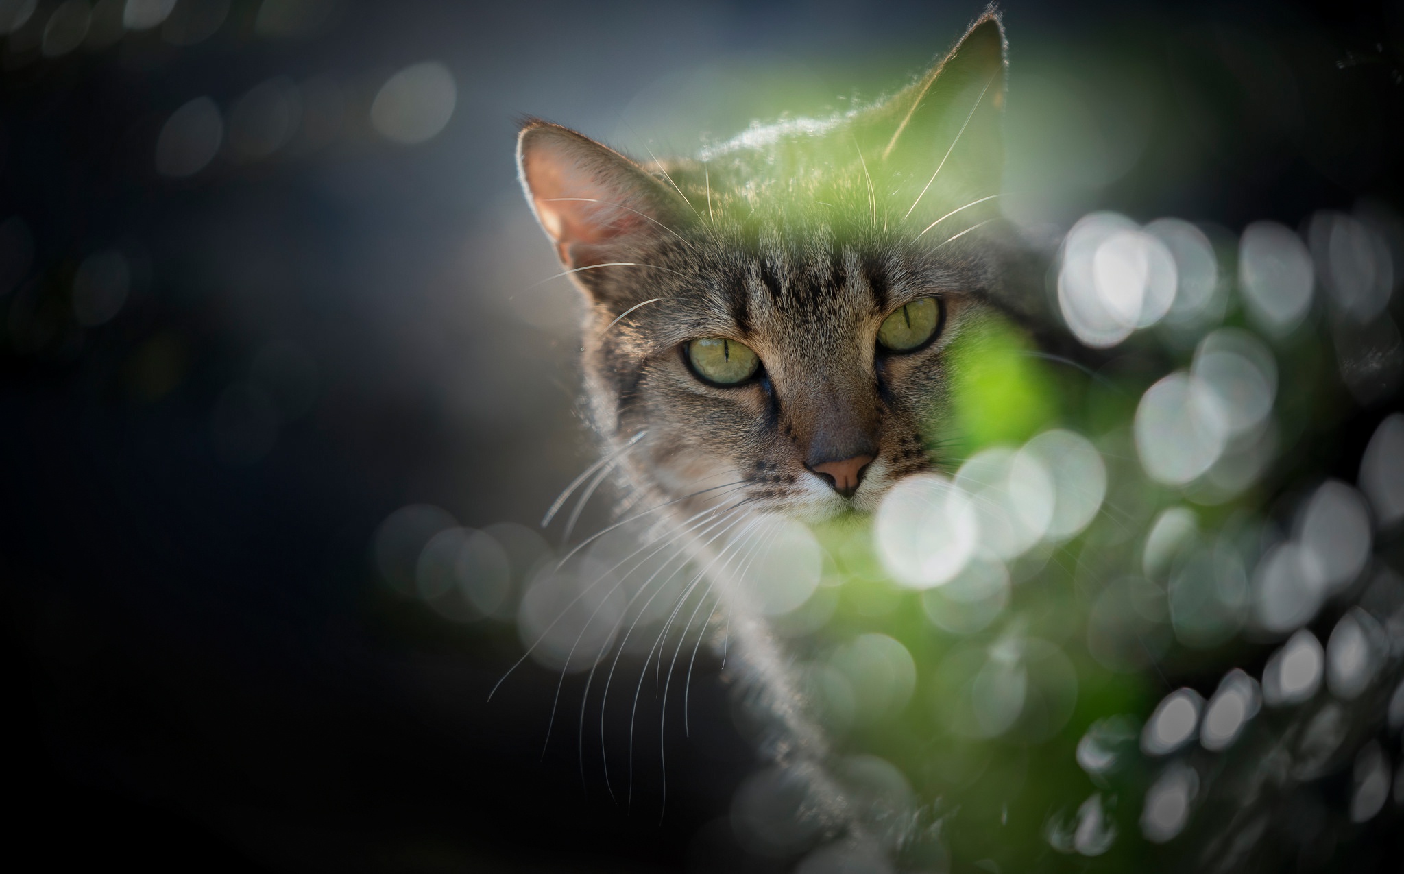
<path fill-rule="evenodd" d="M 870 108 L 653 166 L 525 125 L 522 185 L 590 303 L 591 412 L 635 485 L 821 520 L 942 463 L 949 349 L 1001 283 L 1004 66 L 986 15 Z"/>

